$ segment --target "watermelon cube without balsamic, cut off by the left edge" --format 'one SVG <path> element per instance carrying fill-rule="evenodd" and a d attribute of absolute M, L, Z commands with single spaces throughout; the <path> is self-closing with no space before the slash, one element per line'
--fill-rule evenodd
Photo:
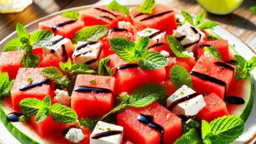
<path fill-rule="evenodd" d="M 22 67 L 21 58 L 23 51 L 2 52 L 0 56 L 0 74 L 8 72 L 11 79 L 15 79 L 17 72 Z"/>

